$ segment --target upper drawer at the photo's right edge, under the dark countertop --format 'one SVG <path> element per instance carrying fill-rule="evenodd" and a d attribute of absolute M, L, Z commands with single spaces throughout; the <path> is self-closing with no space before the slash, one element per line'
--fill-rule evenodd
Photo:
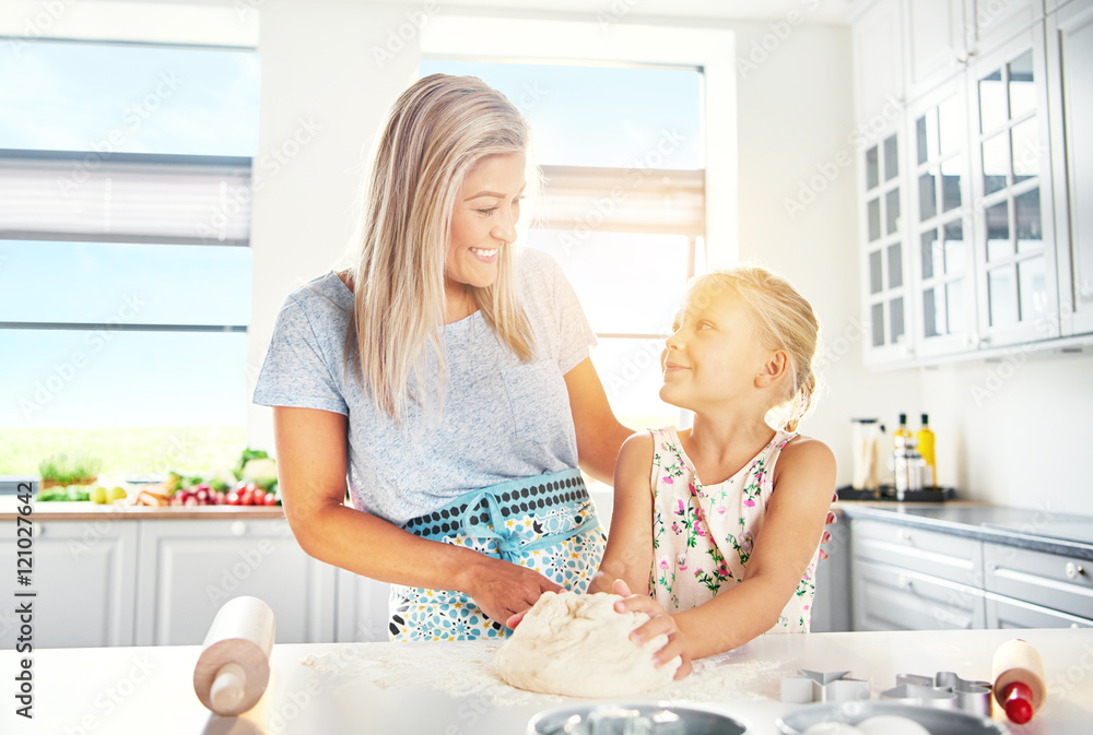
<path fill-rule="evenodd" d="M 988 592 L 1093 619 L 1093 564 L 992 543 L 983 558 Z"/>

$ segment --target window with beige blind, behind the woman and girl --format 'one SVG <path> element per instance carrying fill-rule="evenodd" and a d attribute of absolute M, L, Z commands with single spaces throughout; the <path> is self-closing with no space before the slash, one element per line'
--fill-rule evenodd
<path fill-rule="evenodd" d="M 634 428 L 681 420 L 658 398 L 668 327 L 691 275 L 737 261 L 732 40 L 497 19 L 423 28 L 422 75 L 480 76 L 531 122 L 546 187 L 527 242 L 573 283 L 612 407 Z"/>

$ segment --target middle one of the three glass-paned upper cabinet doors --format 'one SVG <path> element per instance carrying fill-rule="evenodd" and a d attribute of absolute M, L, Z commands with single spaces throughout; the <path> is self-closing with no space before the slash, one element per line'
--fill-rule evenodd
<path fill-rule="evenodd" d="M 925 96 L 908 109 L 908 120 L 915 353 L 929 357 L 974 348 L 978 342 L 963 80 Z"/>

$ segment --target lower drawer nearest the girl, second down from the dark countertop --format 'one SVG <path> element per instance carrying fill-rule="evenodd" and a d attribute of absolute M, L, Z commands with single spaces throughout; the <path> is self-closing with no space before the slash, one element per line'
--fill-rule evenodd
<path fill-rule="evenodd" d="M 986 626 L 982 590 L 854 561 L 855 630 L 969 630 Z"/>

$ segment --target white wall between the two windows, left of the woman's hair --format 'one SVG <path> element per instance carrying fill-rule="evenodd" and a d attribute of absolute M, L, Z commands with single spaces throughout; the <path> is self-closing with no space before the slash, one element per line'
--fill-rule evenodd
<path fill-rule="evenodd" d="M 248 401 L 284 297 L 329 271 L 343 252 L 373 137 L 419 61 L 413 44 L 383 58 L 381 67 L 374 57 L 374 47 L 385 47 L 387 31 L 406 22 L 406 9 L 269 0 L 260 12 L 262 98 L 255 158 L 260 188 L 251 225 Z M 251 447 L 272 449 L 271 413 L 249 406 Z"/>

